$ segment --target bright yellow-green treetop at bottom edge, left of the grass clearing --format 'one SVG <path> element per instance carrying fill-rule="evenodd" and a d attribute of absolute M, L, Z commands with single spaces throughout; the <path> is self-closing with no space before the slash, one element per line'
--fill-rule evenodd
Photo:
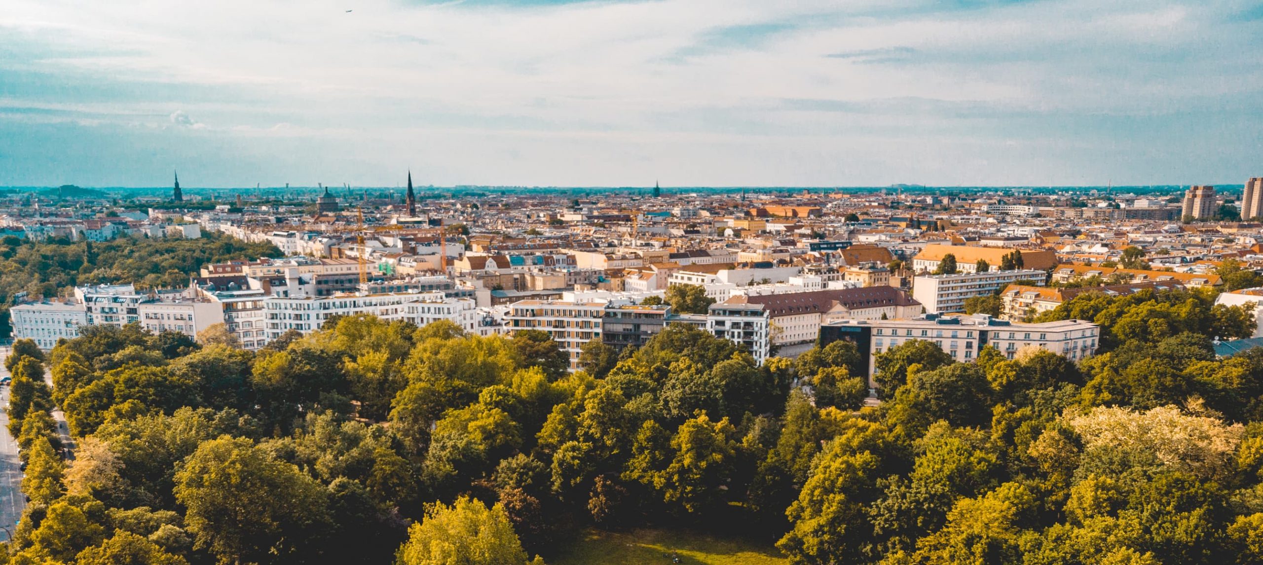
<path fill-rule="evenodd" d="M 460 497 L 452 506 L 436 502 L 426 517 L 408 528 L 397 565 L 525 565 L 527 552 L 509 523 L 504 507 L 488 508 Z"/>

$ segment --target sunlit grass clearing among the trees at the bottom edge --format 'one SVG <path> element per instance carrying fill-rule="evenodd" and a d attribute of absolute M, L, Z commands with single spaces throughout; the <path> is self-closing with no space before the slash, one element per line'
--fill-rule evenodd
<path fill-rule="evenodd" d="M 687 565 L 784 565 L 789 562 L 772 544 L 712 537 L 678 530 L 606 532 L 586 530 L 549 565 L 669 565 L 671 552 Z M 663 556 L 667 554 L 668 556 Z"/>

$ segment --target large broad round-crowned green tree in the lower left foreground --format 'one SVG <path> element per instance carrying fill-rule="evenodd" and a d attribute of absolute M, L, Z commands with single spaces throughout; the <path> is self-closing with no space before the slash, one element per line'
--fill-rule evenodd
<path fill-rule="evenodd" d="M 302 562 L 328 526 L 327 492 L 249 439 L 202 443 L 176 474 L 196 547 L 226 562 Z"/>

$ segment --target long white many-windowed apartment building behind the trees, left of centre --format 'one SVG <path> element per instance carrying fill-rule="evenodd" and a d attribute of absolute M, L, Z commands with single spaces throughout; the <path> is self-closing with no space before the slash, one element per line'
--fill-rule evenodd
<path fill-rule="evenodd" d="M 314 332 L 330 318 L 341 315 L 373 314 L 384 320 L 405 320 L 417 325 L 451 320 L 470 333 L 476 332 L 479 319 L 472 299 L 446 298 L 443 293 L 266 296 L 263 301 L 269 341 L 290 329 Z"/>

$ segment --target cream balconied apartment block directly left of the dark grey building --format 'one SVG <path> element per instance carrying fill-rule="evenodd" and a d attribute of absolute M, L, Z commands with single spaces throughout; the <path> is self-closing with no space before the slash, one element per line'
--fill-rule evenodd
<path fill-rule="evenodd" d="M 601 339 L 606 301 L 520 300 L 509 306 L 505 325 L 512 332 L 539 329 L 570 356 L 570 370 L 578 371 L 578 353 L 585 343 Z"/>

